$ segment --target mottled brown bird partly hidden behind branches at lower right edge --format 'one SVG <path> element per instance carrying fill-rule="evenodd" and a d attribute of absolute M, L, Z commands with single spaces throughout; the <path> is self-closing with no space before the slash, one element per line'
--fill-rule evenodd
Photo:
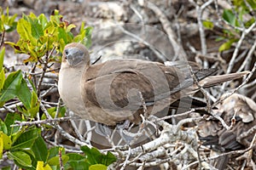
<path fill-rule="evenodd" d="M 213 117 L 197 123 L 203 144 L 211 145 L 213 150 L 220 153 L 249 147 L 256 131 L 256 104 L 253 99 L 241 94 L 232 94 L 230 97 L 228 95 L 230 94 L 221 96 L 222 101 L 218 105 L 218 110 L 214 110 L 214 114 L 231 126 L 230 129 L 226 129 Z M 253 159 L 255 161 L 256 156 L 253 156 Z M 212 164 L 218 169 L 224 169 L 227 163 L 228 156 L 222 156 Z"/>

